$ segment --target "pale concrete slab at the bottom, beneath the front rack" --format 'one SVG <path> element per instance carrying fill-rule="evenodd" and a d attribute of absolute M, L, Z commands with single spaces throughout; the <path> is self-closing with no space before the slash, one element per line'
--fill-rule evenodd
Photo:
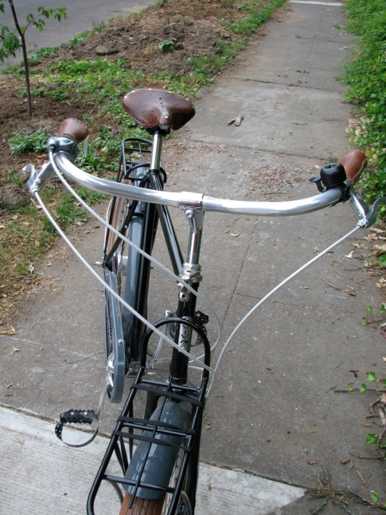
<path fill-rule="evenodd" d="M 107 443 L 107 438 L 97 437 L 88 447 L 70 449 L 54 435 L 54 424 L 0 408 L 0 514 L 48 514 L 53 507 L 58 515 L 84 513 Z M 201 463 L 196 514 L 238 509 L 240 515 L 266 515 L 303 493 L 293 486 Z M 95 513 L 111 515 L 119 509 L 114 490 L 103 488 Z"/>

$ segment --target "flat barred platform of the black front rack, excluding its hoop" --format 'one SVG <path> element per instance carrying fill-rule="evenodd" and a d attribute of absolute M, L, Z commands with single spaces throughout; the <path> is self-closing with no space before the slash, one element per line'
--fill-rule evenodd
<path fill-rule="evenodd" d="M 183 487 L 183 479 L 187 471 L 190 456 L 192 456 L 194 444 L 196 443 L 196 445 L 199 446 L 206 386 L 208 384 L 208 375 L 203 374 L 201 385 L 199 387 L 189 387 L 186 385 L 182 386 L 173 384 L 171 381 L 162 383 L 144 379 L 144 374 L 144 367 L 141 367 L 141 370 L 134 380 L 134 383 L 130 387 L 128 400 L 125 403 L 125 407 L 123 408 L 121 416 L 118 417 L 118 420 L 116 421 L 116 427 L 111 434 L 111 440 L 109 446 L 107 447 L 105 457 L 102 460 L 100 470 L 95 477 L 90 494 L 88 495 L 88 515 L 94 514 L 93 505 L 95 497 L 98 494 L 98 490 L 100 489 L 100 485 L 103 481 L 113 483 L 116 489 L 118 489 L 118 486 L 131 486 L 130 494 L 132 495 L 132 503 L 134 503 L 136 495 L 139 491 L 141 491 L 141 497 L 146 496 L 146 491 L 149 492 L 149 495 L 151 495 L 151 491 L 161 491 L 164 493 L 164 495 L 171 495 L 171 499 L 168 499 L 168 514 L 174 513 L 178 507 L 180 492 Z M 152 396 L 157 398 L 158 406 L 162 406 L 161 412 L 166 401 L 173 401 L 176 403 L 190 403 L 190 406 L 192 407 L 190 425 L 187 427 L 187 429 L 180 429 L 177 426 L 167 424 L 167 422 L 162 422 L 159 420 L 161 417 L 161 412 L 158 419 L 135 418 L 133 403 L 134 398 L 139 391 L 150 393 Z M 180 445 L 178 445 L 176 454 L 179 454 L 180 451 L 182 451 L 181 454 L 183 457 L 182 460 L 180 460 L 181 466 L 178 470 L 178 476 L 173 483 L 174 486 L 149 484 L 143 479 L 144 475 L 146 475 L 146 468 L 148 467 L 150 469 L 152 465 L 154 467 L 154 457 L 149 457 L 150 447 L 154 445 L 172 445 L 167 441 L 165 442 L 165 438 L 164 440 L 160 440 L 160 435 L 163 437 L 165 435 L 169 435 L 171 438 L 178 436 L 178 438 L 180 438 Z M 137 441 L 138 443 L 145 442 L 146 445 L 148 445 L 148 449 L 145 453 L 146 458 L 144 462 L 141 463 L 139 473 L 135 479 L 127 479 L 125 477 L 125 473 L 127 472 L 129 463 L 132 459 L 134 441 Z M 130 460 L 128 458 L 128 449 Z M 106 472 L 107 467 L 109 466 L 109 463 L 114 455 L 119 465 L 121 466 L 121 476 L 111 475 Z M 150 463 L 152 460 L 153 462 Z M 144 492 L 145 495 L 142 495 Z M 123 495 L 124 494 L 125 491 L 123 491 Z"/>

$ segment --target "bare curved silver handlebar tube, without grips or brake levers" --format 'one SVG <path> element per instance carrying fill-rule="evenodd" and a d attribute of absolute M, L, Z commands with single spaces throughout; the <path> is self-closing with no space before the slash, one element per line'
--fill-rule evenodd
<path fill-rule="evenodd" d="M 332 188 L 307 199 L 269 202 L 217 199 L 193 192 L 164 192 L 148 190 L 138 186 L 116 183 L 112 180 L 94 177 L 75 166 L 65 153 L 50 153 L 59 170 L 79 185 L 100 193 L 138 201 L 164 204 L 176 208 L 199 208 L 215 213 L 251 216 L 291 216 L 311 213 L 332 206 L 341 199 L 341 190 Z"/>

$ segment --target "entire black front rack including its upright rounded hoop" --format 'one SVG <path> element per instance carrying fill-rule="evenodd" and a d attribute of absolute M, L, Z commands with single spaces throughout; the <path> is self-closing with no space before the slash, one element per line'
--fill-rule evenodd
<path fill-rule="evenodd" d="M 169 323 L 183 323 L 189 325 L 196 331 L 203 341 L 204 351 L 204 364 L 210 366 L 210 344 L 206 333 L 199 325 L 186 320 L 185 318 L 171 317 L 164 318 L 157 323 L 155 327 L 159 328 L 162 325 Z M 145 378 L 146 370 L 146 355 L 148 340 L 153 333 L 149 330 L 144 337 L 141 349 L 141 367 L 130 387 L 128 399 L 121 415 L 116 421 L 116 427 L 111 433 L 111 439 L 107 447 L 105 456 L 100 464 L 98 474 L 95 477 L 93 486 L 88 495 L 87 500 L 87 514 L 94 515 L 94 502 L 100 485 L 102 482 L 109 482 L 114 486 L 118 495 L 123 500 L 121 486 L 124 490 L 130 490 L 131 500 L 130 506 L 134 503 L 136 496 L 141 498 L 152 498 L 151 493 L 161 493 L 162 495 L 171 494 L 171 499 L 168 499 L 168 515 L 175 513 L 180 499 L 180 493 L 184 485 L 184 479 L 187 473 L 187 468 L 192 464 L 192 478 L 191 484 L 187 486 L 189 491 L 192 492 L 192 500 L 194 503 L 196 481 L 197 481 L 197 468 L 199 463 L 199 443 L 201 437 L 201 422 L 203 417 L 203 408 L 205 406 L 206 387 L 209 380 L 208 369 L 203 369 L 201 376 L 201 383 L 199 386 L 181 385 L 173 381 L 169 377 L 169 381 L 150 381 Z M 148 403 L 146 405 L 145 417 L 134 417 L 134 399 L 138 392 L 146 392 L 148 394 Z M 150 403 L 149 403 L 150 400 Z M 174 403 L 176 406 L 180 403 L 188 403 L 189 407 L 189 420 L 185 427 L 170 424 L 165 420 L 161 420 L 164 411 L 167 410 L 165 406 L 167 402 Z M 157 406 L 157 409 L 155 409 Z M 170 405 L 169 405 L 170 406 Z M 186 405 L 185 405 L 186 406 Z M 152 415 L 153 414 L 153 415 Z M 151 417 L 150 417 L 151 416 Z M 176 419 L 176 417 L 174 417 Z M 183 424 L 184 425 L 184 424 Z M 134 433 L 134 431 L 141 431 L 141 433 Z M 128 478 L 125 477 L 129 470 L 130 461 L 134 455 L 134 440 L 142 445 L 139 470 L 135 472 L 135 476 Z M 146 482 L 146 475 L 148 470 L 154 470 L 154 463 L 150 463 L 152 457 L 150 450 L 153 452 L 153 446 L 163 446 L 173 449 L 174 456 L 172 464 L 176 462 L 178 456 L 178 470 L 176 476 L 173 477 L 173 484 L 169 481 L 171 477 L 162 477 L 162 474 L 157 475 L 156 482 Z M 128 447 L 128 450 L 127 450 Z M 153 448 L 152 448 L 153 447 Z M 128 456 L 129 451 L 129 456 Z M 107 467 L 113 456 L 116 457 L 123 475 L 111 475 L 107 473 Z M 134 455 L 135 456 L 135 455 Z M 138 456 L 138 454 L 137 454 Z M 158 466 L 161 466 L 158 462 Z M 132 475 L 132 472 L 130 472 Z M 159 480 L 166 482 L 160 484 Z M 184 489 L 185 489 L 184 485 Z M 194 505 L 192 506 L 194 512 Z"/>

